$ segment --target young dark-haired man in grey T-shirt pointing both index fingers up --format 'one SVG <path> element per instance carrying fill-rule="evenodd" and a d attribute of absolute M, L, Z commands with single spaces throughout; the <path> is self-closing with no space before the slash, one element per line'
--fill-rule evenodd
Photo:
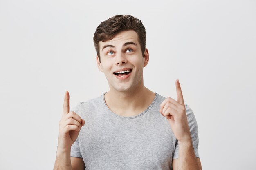
<path fill-rule="evenodd" d="M 71 112 L 66 92 L 54 170 L 201 170 L 198 127 L 179 81 L 177 101 L 143 84 L 149 54 L 141 21 L 109 18 L 94 45 L 110 90 Z"/>

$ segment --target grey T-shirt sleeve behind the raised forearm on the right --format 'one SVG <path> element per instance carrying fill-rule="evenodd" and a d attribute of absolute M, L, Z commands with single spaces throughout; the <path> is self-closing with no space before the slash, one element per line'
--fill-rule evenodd
<path fill-rule="evenodd" d="M 188 119 L 188 123 L 189 123 L 189 128 L 190 128 L 190 135 L 191 135 L 191 138 L 192 138 L 193 147 L 194 147 L 194 151 L 195 151 L 195 156 L 197 158 L 200 158 L 199 154 L 198 154 L 198 144 L 199 144 L 198 124 L 196 122 L 193 110 L 191 110 L 191 108 L 189 108 L 189 106 L 187 104 L 185 104 L 185 107 L 186 107 L 186 115 L 187 115 L 187 119 Z M 178 154 L 179 154 L 179 143 L 178 143 L 178 141 L 176 139 L 175 151 L 174 151 L 174 154 L 173 154 L 173 159 L 177 159 L 178 158 Z"/>

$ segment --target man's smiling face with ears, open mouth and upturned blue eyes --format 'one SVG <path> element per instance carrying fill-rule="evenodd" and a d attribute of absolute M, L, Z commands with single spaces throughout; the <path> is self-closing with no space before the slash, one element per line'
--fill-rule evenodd
<path fill-rule="evenodd" d="M 97 56 L 97 66 L 104 72 L 110 90 L 129 91 L 143 86 L 143 68 L 148 64 L 148 49 L 145 49 L 143 57 L 135 31 L 122 31 L 112 40 L 99 42 L 99 51 L 101 62 Z"/>

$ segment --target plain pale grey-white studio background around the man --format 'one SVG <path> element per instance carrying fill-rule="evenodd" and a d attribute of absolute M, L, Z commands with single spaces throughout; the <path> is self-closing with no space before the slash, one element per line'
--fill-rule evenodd
<path fill-rule="evenodd" d="M 109 89 L 92 38 L 118 14 L 146 27 L 144 85 L 176 100 L 180 80 L 202 168 L 255 170 L 254 0 L 0 0 L 0 169 L 53 169 L 65 91 Z"/>

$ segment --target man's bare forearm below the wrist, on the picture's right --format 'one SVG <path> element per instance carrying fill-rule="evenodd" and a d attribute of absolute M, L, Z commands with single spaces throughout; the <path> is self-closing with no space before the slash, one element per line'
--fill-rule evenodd
<path fill-rule="evenodd" d="M 179 141 L 178 170 L 201 170 L 192 141 Z"/>

